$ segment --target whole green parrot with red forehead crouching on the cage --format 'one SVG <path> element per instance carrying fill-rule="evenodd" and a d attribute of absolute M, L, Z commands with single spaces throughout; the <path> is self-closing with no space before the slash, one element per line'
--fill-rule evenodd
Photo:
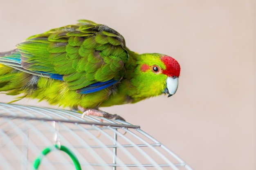
<path fill-rule="evenodd" d="M 172 57 L 132 52 L 117 31 L 89 20 L 33 35 L 0 53 L 0 91 L 110 119 L 124 120 L 99 107 L 170 97 L 179 75 Z"/>

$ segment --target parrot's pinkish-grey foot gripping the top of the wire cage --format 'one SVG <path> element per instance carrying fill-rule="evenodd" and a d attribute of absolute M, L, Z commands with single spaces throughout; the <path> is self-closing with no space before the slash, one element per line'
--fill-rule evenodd
<path fill-rule="evenodd" d="M 93 116 L 99 116 L 99 117 L 105 117 L 107 119 L 119 119 L 119 120 L 123 120 L 125 121 L 125 119 L 119 115 L 112 115 L 110 113 L 107 112 L 103 112 L 101 110 L 97 110 L 97 109 L 92 109 L 92 108 L 82 108 L 82 107 L 78 107 L 79 110 L 81 110 L 83 112 L 83 115 L 93 115 Z"/>

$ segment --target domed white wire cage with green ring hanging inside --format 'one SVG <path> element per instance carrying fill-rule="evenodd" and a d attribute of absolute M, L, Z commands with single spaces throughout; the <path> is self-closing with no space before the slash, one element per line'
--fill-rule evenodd
<path fill-rule="evenodd" d="M 0 103 L 1 170 L 192 170 L 139 126 Z"/>

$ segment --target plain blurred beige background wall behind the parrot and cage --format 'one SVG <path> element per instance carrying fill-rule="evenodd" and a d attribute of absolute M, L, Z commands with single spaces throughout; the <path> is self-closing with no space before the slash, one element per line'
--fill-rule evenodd
<path fill-rule="evenodd" d="M 182 70 L 174 96 L 103 110 L 140 125 L 195 170 L 255 170 L 255 11 L 255 0 L 1 0 L 0 51 L 78 19 L 107 24 L 131 50 L 171 55 Z"/>

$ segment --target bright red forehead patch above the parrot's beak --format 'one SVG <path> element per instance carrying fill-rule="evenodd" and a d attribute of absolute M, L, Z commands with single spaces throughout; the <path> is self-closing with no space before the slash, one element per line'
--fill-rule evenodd
<path fill-rule="evenodd" d="M 161 57 L 162 62 L 164 62 L 166 69 L 163 73 L 168 77 L 179 77 L 180 76 L 180 64 L 173 58 L 167 55 Z"/>

